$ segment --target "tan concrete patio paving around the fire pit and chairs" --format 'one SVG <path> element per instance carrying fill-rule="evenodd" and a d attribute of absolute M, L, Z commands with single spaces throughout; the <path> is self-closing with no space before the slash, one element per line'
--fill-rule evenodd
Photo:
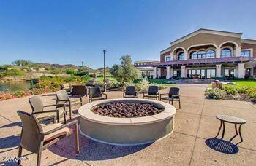
<path fill-rule="evenodd" d="M 176 113 L 173 134 L 142 146 L 110 146 L 80 135 L 78 156 L 75 156 L 75 142 L 71 136 L 43 151 L 42 165 L 255 165 L 256 105 L 232 100 L 207 100 L 203 95 L 206 84 L 178 87 L 181 88 L 181 109 Z M 55 103 L 54 94 L 40 96 L 46 104 Z M 122 92 L 108 92 L 108 97 L 122 98 Z M 16 111 L 30 112 L 28 99 L 0 102 L 0 165 L 15 165 L 4 161 L 4 158 L 18 155 L 21 123 Z M 83 102 L 87 103 L 88 98 Z M 178 108 L 176 103 L 174 106 Z M 206 139 L 213 138 L 219 129 L 219 120 L 215 118 L 217 114 L 246 119 L 242 127 L 244 142 L 238 144 L 238 153 L 223 154 L 206 146 Z M 75 109 L 73 117 L 78 117 Z M 234 126 L 227 124 L 224 139 L 229 140 L 234 134 Z M 239 137 L 236 137 L 233 143 L 238 142 Z M 28 157 L 22 161 L 23 165 L 35 165 L 36 154 L 29 151 L 23 154 Z"/>

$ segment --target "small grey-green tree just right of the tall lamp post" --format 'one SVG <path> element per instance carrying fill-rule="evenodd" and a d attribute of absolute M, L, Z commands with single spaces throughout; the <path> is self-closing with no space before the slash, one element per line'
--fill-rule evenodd
<path fill-rule="evenodd" d="M 132 59 L 129 55 L 124 55 L 120 58 L 121 63 L 115 64 L 110 69 L 110 73 L 113 76 L 116 76 L 118 82 L 122 82 L 123 84 L 127 82 L 131 82 L 134 79 L 138 78 L 138 72 L 136 68 L 132 65 Z"/>

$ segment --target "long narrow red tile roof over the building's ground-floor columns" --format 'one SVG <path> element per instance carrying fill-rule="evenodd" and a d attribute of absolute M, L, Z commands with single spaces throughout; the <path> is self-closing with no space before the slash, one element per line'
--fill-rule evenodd
<path fill-rule="evenodd" d="M 212 64 L 212 63 L 238 63 L 255 60 L 249 57 L 227 57 L 227 58 L 205 58 L 194 60 L 172 60 L 164 63 L 156 63 L 154 66 L 183 66 L 183 65 L 196 65 L 196 64 Z"/>

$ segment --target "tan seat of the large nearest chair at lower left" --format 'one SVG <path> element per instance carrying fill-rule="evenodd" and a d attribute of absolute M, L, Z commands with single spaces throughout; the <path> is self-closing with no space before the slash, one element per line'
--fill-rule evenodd
<path fill-rule="evenodd" d="M 48 125 L 42 125 L 42 131 L 48 132 L 50 130 L 53 130 L 57 127 L 61 127 L 61 123 L 53 123 Z M 48 135 L 45 135 L 44 141 L 50 141 L 55 138 L 59 138 L 60 136 L 70 135 L 72 133 L 72 129 L 69 129 L 69 127 L 64 127 L 61 130 L 58 130 L 56 132 L 50 133 Z"/>

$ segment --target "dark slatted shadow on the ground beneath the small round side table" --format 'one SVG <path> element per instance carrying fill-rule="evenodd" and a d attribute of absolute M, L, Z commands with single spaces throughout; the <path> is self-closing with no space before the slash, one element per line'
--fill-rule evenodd
<path fill-rule="evenodd" d="M 236 154 L 239 149 L 235 144 L 218 138 L 209 138 L 205 141 L 206 145 L 214 151 L 224 154 Z"/>

